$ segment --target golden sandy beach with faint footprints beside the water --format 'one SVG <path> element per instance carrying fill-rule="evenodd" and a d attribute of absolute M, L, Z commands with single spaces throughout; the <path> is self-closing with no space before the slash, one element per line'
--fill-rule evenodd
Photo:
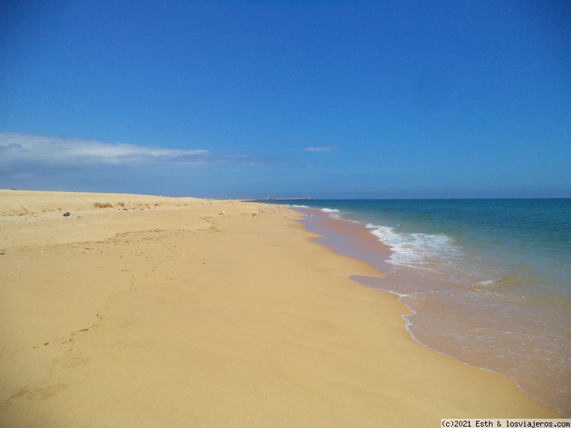
<path fill-rule="evenodd" d="M 560 417 L 419 345 L 348 279 L 378 271 L 257 205 L 0 190 L 0 427 Z"/>

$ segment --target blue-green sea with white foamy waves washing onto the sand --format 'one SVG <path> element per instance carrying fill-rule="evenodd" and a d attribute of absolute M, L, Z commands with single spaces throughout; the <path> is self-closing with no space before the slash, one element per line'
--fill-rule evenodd
<path fill-rule="evenodd" d="M 300 204 L 362 225 L 390 247 L 385 277 L 350 278 L 398 295 L 413 312 L 405 319 L 415 340 L 510 377 L 571 415 L 570 199 Z M 304 223 L 311 230 L 310 216 Z M 340 247 L 349 243 L 334 242 L 347 254 Z"/>

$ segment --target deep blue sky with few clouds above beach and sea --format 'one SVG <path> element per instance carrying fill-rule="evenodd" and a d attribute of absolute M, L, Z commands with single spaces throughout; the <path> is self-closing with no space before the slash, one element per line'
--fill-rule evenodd
<path fill-rule="evenodd" d="M 571 197 L 568 1 L 4 1 L 0 188 Z"/>

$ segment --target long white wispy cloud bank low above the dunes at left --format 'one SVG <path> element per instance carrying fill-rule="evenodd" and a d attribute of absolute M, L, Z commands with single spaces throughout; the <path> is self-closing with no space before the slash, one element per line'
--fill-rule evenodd
<path fill-rule="evenodd" d="M 205 166 L 251 163 L 251 156 L 215 155 L 207 150 L 181 150 L 136 144 L 0 133 L 0 168 L 19 170 L 32 165 L 49 168 L 101 166 Z"/>

